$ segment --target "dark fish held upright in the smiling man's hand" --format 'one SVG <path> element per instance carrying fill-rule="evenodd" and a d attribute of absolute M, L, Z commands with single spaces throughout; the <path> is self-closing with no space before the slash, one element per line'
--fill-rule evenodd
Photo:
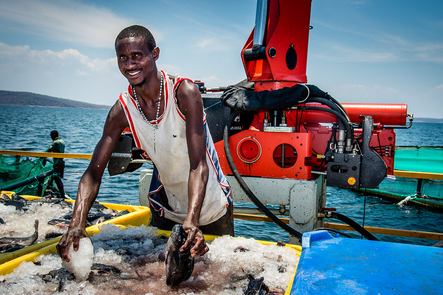
<path fill-rule="evenodd" d="M 173 287 L 190 278 L 194 270 L 194 259 L 190 248 L 180 252 L 180 247 L 186 242 L 187 233 L 182 225 L 176 224 L 166 243 L 164 252 L 158 256 L 166 264 L 166 285 Z"/>

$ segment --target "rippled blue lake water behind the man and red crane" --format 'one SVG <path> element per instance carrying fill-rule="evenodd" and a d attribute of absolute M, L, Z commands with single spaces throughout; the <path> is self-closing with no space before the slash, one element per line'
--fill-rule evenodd
<path fill-rule="evenodd" d="M 30 106 L 0 105 L 0 149 L 20 151 L 45 151 L 52 140 L 50 131 L 58 130 L 65 140 L 65 153 L 92 154 L 99 140 L 107 110 L 68 109 Z M 398 130 L 398 146 L 443 146 L 443 124 L 413 123 L 411 129 Z M 77 185 L 89 160 L 66 159 L 64 189 L 71 197 L 77 193 Z M 141 168 L 143 169 L 147 164 Z M 101 202 L 139 204 L 138 180 L 140 170 L 133 173 L 103 176 L 97 199 Z M 399 206 L 378 197 L 365 196 L 339 188 L 327 188 L 326 207 L 337 208 L 359 224 L 366 226 L 414 229 L 442 232 L 441 213 L 426 208 Z M 328 222 L 336 222 L 327 220 Z M 271 223 L 235 221 L 237 236 L 260 240 L 288 240 L 287 233 Z M 353 234 L 354 237 L 359 237 Z M 436 241 L 416 238 L 376 235 L 380 240 L 431 245 Z"/>

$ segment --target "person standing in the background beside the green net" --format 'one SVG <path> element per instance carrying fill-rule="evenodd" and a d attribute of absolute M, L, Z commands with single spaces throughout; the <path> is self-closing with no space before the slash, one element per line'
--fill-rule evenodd
<path fill-rule="evenodd" d="M 64 140 L 60 138 L 57 130 L 51 131 L 52 144 L 46 150 L 47 153 L 64 153 Z M 63 158 L 54 158 L 53 162 L 54 174 L 49 176 L 47 187 L 51 187 L 53 181 L 56 183 L 60 192 L 60 197 L 65 198 L 63 188 L 64 161 Z"/>

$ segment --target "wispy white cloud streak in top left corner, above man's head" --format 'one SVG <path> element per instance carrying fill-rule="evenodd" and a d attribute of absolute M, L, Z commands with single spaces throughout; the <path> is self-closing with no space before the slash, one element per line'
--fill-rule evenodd
<path fill-rule="evenodd" d="M 75 1 L 1 1 L 1 26 L 92 47 L 112 48 L 117 34 L 132 24 L 133 20 L 106 8 Z M 27 29 L 20 29 L 24 26 Z M 152 33 L 155 33 L 156 39 L 161 39 L 160 33 Z"/>

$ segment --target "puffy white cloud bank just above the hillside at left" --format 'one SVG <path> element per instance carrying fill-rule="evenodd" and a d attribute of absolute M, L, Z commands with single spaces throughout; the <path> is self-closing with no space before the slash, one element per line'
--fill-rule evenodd
<path fill-rule="evenodd" d="M 0 64 L 2 90 L 110 105 L 127 87 L 116 57 L 90 59 L 75 49 L 32 50 L 0 42 Z"/>

